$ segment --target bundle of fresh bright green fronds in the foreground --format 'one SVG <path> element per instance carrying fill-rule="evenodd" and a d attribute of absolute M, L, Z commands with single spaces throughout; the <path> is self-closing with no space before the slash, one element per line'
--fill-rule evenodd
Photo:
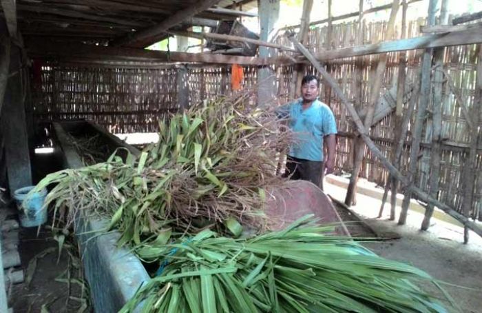
<path fill-rule="evenodd" d="M 121 312 L 446 312 L 415 285 L 433 282 L 428 274 L 302 225 L 308 218 L 251 239 L 203 230 L 138 246 L 162 265 Z"/>

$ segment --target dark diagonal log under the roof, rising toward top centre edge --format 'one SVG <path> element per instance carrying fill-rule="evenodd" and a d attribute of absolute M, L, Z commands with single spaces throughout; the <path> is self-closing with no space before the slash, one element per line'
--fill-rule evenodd
<path fill-rule="evenodd" d="M 152 42 L 153 37 L 157 37 L 160 34 L 163 34 L 169 28 L 176 26 L 179 23 L 182 23 L 182 21 L 185 21 L 190 17 L 193 17 L 193 15 L 207 10 L 219 1 L 220 0 L 198 1 L 196 5 L 189 6 L 184 10 L 180 10 L 174 13 L 173 15 L 171 15 L 171 17 L 168 17 L 156 26 L 147 28 L 145 30 L 140 30 L 139 32 L 136 32 L 133 36 L 123 37 L 121 39 L 113 41 L 112 46 L 132 46 L 133 43 L 142 43 L 144 47 L 149 46 L 151 43 L 154 43 Z"/>

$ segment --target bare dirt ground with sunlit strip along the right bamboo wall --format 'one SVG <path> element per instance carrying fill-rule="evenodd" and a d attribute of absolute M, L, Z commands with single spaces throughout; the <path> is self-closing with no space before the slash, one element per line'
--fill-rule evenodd
<path fill-rule="evenodd" d="M 325 191 L 335 199 L 343 200 L 344 188 L 327 185 Z M 397 233 L 400 239 L 364 243 L 379 256 L 415 265 L 439 281 L 459 305 L 461 312 L 482 312 L 482 245 L 473 232 L 468 245 L 463 241 L 463 228 L 448 223 L 432 221 L 428 232 L 421 232 L 421 214 L 410 212 L 408 225 L 399 226 L 388 221 L 388 216 L 377 216 L 381 201 L 358 195 L 353 210 L 366 217 L 371 228 L 378 233 Z M 385 211 L 388 213 L 388 208 Z M 437 292 L 435 287 L 425 286 L 427 291 Z M 468 289 L 471 288 L 471 289 Z"/>

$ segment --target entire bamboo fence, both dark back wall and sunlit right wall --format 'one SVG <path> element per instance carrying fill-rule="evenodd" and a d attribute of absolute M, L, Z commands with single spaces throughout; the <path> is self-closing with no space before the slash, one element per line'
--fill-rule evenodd
<path fill-rule="evenodd" d="M 419 26 L 423 19 L 407 23 L 407 37 L 420 36 Z M 362 32 L 359 28 L 362 27 Z M 386 23 L 338 23 L 331 29 L 331 43 L 326 43 L 328 27 L 311 29 L 308 34 L 308 48 L 315 52 L 335 48 L 355 46 L 360 41 L 363 44 L 384 41 Z M 395 38 L 400 34 L 399 26 Z M 278 37 L 276 43 L 291 46 L 288 39 Z M 448 81 L 443 83 L 442 105 L 442 152 L 439 200 L 452 206 L 458 212 L 462 210 L 463 199 L 463 164 L 468 158 L 470 134 L 468 123 L 457 101 L 456 94 L 465 102 L 470 110 L 474 103 L 476 79 L 475 45 L 454 46 L 445 49 L 443 70 L 449 75 L 454 88 Z M 368 103 L 370 81 L 373 79 L 377 65 L 377 55 L 336 59 L 326 65 L 326 69 L 337 79 L 348 99 L 355 103 L 355 108 L 361 110 Z M 406 86 L 419 83 L 416 81 L 421 63 L 421 51 L 407 52 Z M 382 94 L 397 85 L 399 53 L 388 54 L 386 73 Z M 273 66 L 275 73 L 275 88 L 278 97 L 275 102 L 281 104 L 291 100 L 295 94 L 293 79 L 294 66 Z M 437 69 L 434 69 L 437 70 Z M 88 119 L 103 125 L 110 132 L 155 132 L 158 119 L 179 109 L 176 91 L 176 68 L 171 69 L 119 69 L 119 68 L 86 68 L 68 67 L 45 64 L 41 70 L 41 84 L 34 91 L 34 117 L 37 121 L 54 119 Z M 306 72 L 315 73 L 311 66 Z M 231 90 L 231 68 L 229 66 L 209 65 L 188 68 L 189 103 L 198 103 L 219 94 L 229 94 Z M 244 68 L 245 90 L 255 90 L 257 68 Z M 412 95 L 412 97 L 416 97 Z M 320 99 L 330 105 L 339 129 L 337 137 L 337 170 L 350 172 L 353 168 L 355 132 L 348 119 L 348 114 L 342 103 L 323 84 Z M 409 99 L 404 99 L 404 110 Z M 432 103 L 429 104 L 429 112 Z M 417 108 L 415 108 L 417 110 Z M 406 137 L 406 145 L 401 159 L 401 171 L 406 173 L 410 163 L 411 132 L 415 121 L 412 114 L 411 123 Z M 370 129 L 370 136 L 386 156 L 395 150 L 395 114 L 389 114 Z M 481 128 L 478 130 L 481 135 Z M 430 146 L 432 144 L 432 118 L 426 118 L 422 135 L 421 154 L 417 159 L 419 168 L 416 183 L 422 190 L 428 191 L 430 176 Z M 480 145 L 480 143 L 479 143 Z M 482 170 L 482 149 L 477 150 L 476 170 Z M 360 175 L 379 185 L 385 185 L 388 172 L 375 157 L 366 150 Z M 482 185 L 482 175 L 476 175 L 476 186 Z M 482 188 L 476 188 L 470 216 L 482 221 Z"/>

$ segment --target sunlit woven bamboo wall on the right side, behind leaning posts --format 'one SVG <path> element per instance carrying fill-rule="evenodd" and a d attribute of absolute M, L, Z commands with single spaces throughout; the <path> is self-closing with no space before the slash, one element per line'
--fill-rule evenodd
<path fill-rule="evenodd" d="M 412 21 L 408 23 L 408 37 L 421 36 L 419 33 L 419 25 L 423 20 Z M 362 32 L 364 35 L 363 43 L 377 43 L 384 40 L 384 28 L 386 23 L 369 23 L 362 24 Z M 397 36 L 400 29 L 397 29 Z M 308 47 L 312 51 L 320 51 L 322 49 L 344 48 L 355 46 L 359 41 L 358 23 L 342 23 L 333 26 L 331 45 L 326 45 L 326 37 L 328 28 L 317 28 L 309 32 Z M 278 43 L 289 45 L 286 38 L 280 37 Z M 476 62 L 477 50 L 475 45 L 455 46 L 445 49 L 443 70 L 448 72 L 450 79 L 454 82 L 455 90 L 449 88 L 448 83 L 443 84 L 443 105 L 442 105 L 442 138 L 444 144 L 441 154 L 441 178 L 439 199 L 448 205 L 451 205 L 457 211 L 461 212 L 463 200 L 463 164 L 468 158 L 468 145 L 470 144 L 470 132 L 468 123 L 462 114 L 460 105 L 457 103 L 454 92 L 462 94 L 465 105 L 468 110 L 472 109 L 474 103 L 474 88 L 476 79 Z M 377 56 L 354 57 L 347 59 L 338 59 L 326 65 L 326 70 L 330 72 L 337 82 L 342 86 L 342 90 L 353 101 L 355 108 L 363 108 L 368 103 L 370 94 L 370 81 L 373 81 L 373 71 L 377 65 Z M 382 94 L 396 85 L 398 74 L 399 53 L 388 54 L 388 62 L 384 77 L 384 85 Z M 406 82 L 409 85 L 419 83 L 417 81 L 417 72 L 421 64 L 421 51 L 409 51 L 407 54 L 406 66 Z M 362 81 L 357 80 L 357 71 L 362 77 Z M 306 72 L 317 74 L 312 67 L 308 67 Z M 293 88 L 293 86 L 291 86 Z M 320 91 L 320 99 L 331 106 L 335 116 L 340 135 L 337 143 L 337 168 L 340 171 L 350 172 L 353 168 L 353 125 L 350 124 L 348 113 L 342 106 L 342 103 L 333 95 L 330 90 L 322 83 Z M 406 108 L 407 102 L 404 103 Z M 429 112 L 432 103 L 429 103 Z M 417 110 L 417 104 L 416 108 Z M 416 112 L 416 111 L 415 111 Z M 415 122 L 416 113 L 412 114 L 409 125 L 408 136 L 406 142 L 411 141 L 411 127 Z M 386 156 L 390 156 L 392 150 L 395 149 L 393 143 L 395 139 L 395 117 L 390 114 L 381 122 L 377 123 L 370 129 L 370 136 L 375 140 L 378 147 Z M 479 125 L 479 138 L 481 138 L 482 130 Z M 416 177 L 419 188 L 428 192 L 428 182 L 430 179 L 430 145 L 432 143 L 432 117 L 428 114 L 426 124 L 422 134 L 421 157 L 418 160 L 418 175 Z M 480 143 L 479 143 L 480 146 Z M 474 205 L 472 206 L 471 216 L 474 219 L 482 221 L 482 149 L 478 150 L 476 160 L 476 188 L 474 194 Z M 401 170 L 408 170 L 410 163 L 410 145 L 406 145 L 401 160 Z M 381 163 L 368 151 L 365 152 L 364 163 L 362 165 L 361 176 L 374 181 L 379 185 L 385 185 L 388 179 L 388 171 L 386 171 Z"/>

